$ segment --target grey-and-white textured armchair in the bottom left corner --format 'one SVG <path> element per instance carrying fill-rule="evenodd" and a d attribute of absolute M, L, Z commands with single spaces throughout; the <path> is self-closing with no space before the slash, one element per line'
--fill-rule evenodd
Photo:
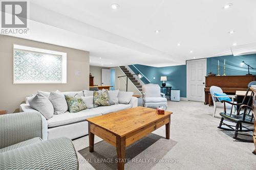
<path fill-rule="evenodd" d="M 70 139 L 42 136 L 39 113 L 0 115 L 0 169 L 78 169 Z"/>

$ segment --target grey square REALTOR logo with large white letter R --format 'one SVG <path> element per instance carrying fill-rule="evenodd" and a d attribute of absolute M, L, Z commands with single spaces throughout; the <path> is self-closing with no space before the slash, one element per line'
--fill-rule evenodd
<path fill-rule="evenodd" d="M 28 27 L 28 2 L 27 1 L 2 1 L 1 2 L 2 34 L 27 33 Z M 16 28 L 16 29 L 14 29 Z M 25 30 L 25 28 L 27 30 Z"/>

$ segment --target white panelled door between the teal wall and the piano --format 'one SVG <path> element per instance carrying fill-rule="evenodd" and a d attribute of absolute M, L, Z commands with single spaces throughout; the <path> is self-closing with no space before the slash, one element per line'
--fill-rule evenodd
<path fill-rule="evenodd" d="M 204 102 L 206 59 L 187 61 L 187 99 Z"/>

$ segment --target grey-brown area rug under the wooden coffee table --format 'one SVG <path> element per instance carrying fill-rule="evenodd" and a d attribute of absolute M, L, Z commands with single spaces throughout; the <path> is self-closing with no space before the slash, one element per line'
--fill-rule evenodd
<path fill-rule="evenodd" d="M 151 133 L 150 135 L 131 144 L 125 150 L 125 169 L 151 169 L 158 162 L 168 161 L 172 163 L 174 159 L 163 159 L 167 152 L 172 152 L 172 148 L 177 142 L 172 139 L 165 139 L 162 136 Z M 94 152 L 89 152 L 89 147 L 78 151 L 87 162 L 95 169 L 117 169 L 116 148 L 111 144 L 100 141 L 94 144 Z"/>

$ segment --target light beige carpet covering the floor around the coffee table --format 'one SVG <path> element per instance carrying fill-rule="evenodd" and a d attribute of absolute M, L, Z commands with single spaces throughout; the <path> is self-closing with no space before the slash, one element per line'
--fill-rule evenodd
<path fill-rule="evenodd" d="M 212 107 L 201 102 L 181 101 L 168 102 L 168 110 L 174 112 L 171 116 L 169 141 L 165 142 L 165 127 L 161 127 L 153 132 L 158 136 L 155 140 L 147 140 L 151 137 L 148 136 L 140 141 L 144 142 L 141 147 L 139 144 L 134 145 L 136 154 L 133 154 L 132 149 L 127 150 L 129 158 L 148 158 L 151 161 L 156 158 L 159 162 L 145 162 L 144 165 L 141 162 L 125 163 L 126 169 L 256 169 L 256 156 L 251 153 L 253 143 L 234 140 L 232 133 L 218 129 L 220 119 L 212 117 Z M 95 136 L 95 143 L 98 142 L 95 144 L 95 151 L 97 145 L 99 150 L 94 155 L 90 155 L 85 149 L 89 146 L 88 136 L 73 140 L 73 143 L 77 151 L 81 150 L 83 156 L 102 158 L 100 152 L 105 149 L 109 150 L 109 156 L 112 158 L 115 148 L 110 148 L 110 145 L 101 140 Z M 162 147 L 164 144 L 166 146 Z M 77 152 L 79 169 L 114 168 L 112 163 L 109 167 L 105 166 L 107 163 L 98 166 L 94 162 L 95 159 L 88 162 L 88 158 L 84 159 L 80 153 Z"/>

